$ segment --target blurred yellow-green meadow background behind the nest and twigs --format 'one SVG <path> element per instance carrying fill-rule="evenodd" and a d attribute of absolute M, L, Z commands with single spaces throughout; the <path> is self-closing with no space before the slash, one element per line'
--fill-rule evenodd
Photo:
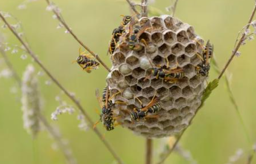
<path fill-rule="evenodd" d="M 92 74 L 86 74 L 78 65 L 71 64 L 78 56 L 79 44 L 70 34 L 65 34 L 64 29 L 56 29 L 58 21 L 53 20 L 53 14 L 46 11 L 47 5 L 44 0 L 29 3 L 26 10 L 18 10 L 17 6 L 22 2 L 23 0 L 0 0 L 0 10 L 10 12 L 23 23 L 33 51 L 68 90 L 76 93 L 86 111 L 96 122 L 99 116 L 95 109 L 99 108 L 99 105 L 94 91 L 95 88 L 104 88 L 107 71 L 101 67 Z M 62 9 L 62 14 L 73 31 L 110 66 L 111 62 L 105 54 L 111 32 L 121 21 L 119 15 L 130 13 L 125 0 L 54 0 L 54 2 Z M 204 39 L 211 40 L 222 68 L 230 57 L 238 31 L 249 19 L 253 4 L 254 0 L 180 0 L 176 17 L 193 25 L 196 32 Z M 156 0 L 152 6 L 168 14 L 165 8 L 170 5 L 171 0 Z M 18 44 L 8 30 L 0 29 L 0 31 L 5 34 L 7 42 Z M 229 67 L 229 72 L 233 74 L 231 87 L 250 138 L 255 141 L 256 76 L 253 72 L 256 70 L 255 41 L 248 42 L 240 51 L 241 57 L 235 57 Z M 8 52 L 8 56 L 20 76 L 26 65 L 31 63 L 30 58 L 20 59 L 20 53 Z M 210 78 L 216 76 L 217 74 L 211 70 Z M 60 90 L 54 84 L 45 85 L 46 80 L 48 80 L 46 75 L 40 77 L 44 114 L 49 122 L 58 124 L 63 136 L 70 141 L 70 147 L 78 163 L 112 164 L 113 157 L 92 130 L 87 132 L 79 130 L 77 113 L 61 115 L 57 122 L 50 120 L 50 114 L 58 106 L 55 96 Z M 14 85 L 13 79 L 0 79 L 0 164 L 63 164 L 65 161 L 62 154 L 52 150 L 52 139 L 45 131 L 33 141 L 23 129 L 20 92 L 10 93 L 10 88 Z M 65 96 L 62 98 L 67 100 Z M 102 133 L 106 133 L 101 124 L 98 127 Z M 116 127 L 111 133 L 106 133 L 106 139 L 111 142 L 126 164 L 144 162 L 145 139 L 142 137 L 135 136 L 122 127 Z M 154 154 L 157 155 L 160 140 L 154 141 Z M 245 163 L 244 160 L 252 144 L 246 139 L 223 79 L 195 117 L 180 143 L 192 153 L 198 164 L 225 164 L 239 148 L 245 152 L 244 158 L 238 163 Z M 36 162 L 34 158 L 37 159 Z M 166 161 L 166 164 L 168 163 L 188 162 L 177 153 L 173 153 Z"/>

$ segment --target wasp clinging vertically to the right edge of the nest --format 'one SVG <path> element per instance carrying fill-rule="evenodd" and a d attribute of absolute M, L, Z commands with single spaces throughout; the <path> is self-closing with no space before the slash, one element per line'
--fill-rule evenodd
<path fill-rule="evenodd" d="M 213 45 L 210 44 L 208 40 L 206 47 L 204 48 L 202 62 L 196 66 L 196 69 L 198 70 L 198 74 L 200 74 L 201 76 L 208 76 L 209 70 L 210 70 L 209 59 L 212 58 L 212 55 L 213 55 Z"/>

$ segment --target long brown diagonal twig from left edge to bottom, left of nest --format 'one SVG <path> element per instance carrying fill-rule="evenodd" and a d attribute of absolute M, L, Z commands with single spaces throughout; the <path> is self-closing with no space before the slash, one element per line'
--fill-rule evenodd
<path fill-rule="evenodd" d="M 58 86 L 58 88 L 60 88 L 66 95 L 68 98 L 70 98 L 78 107 L 78 109 L 80 110 L 80 112 L 84 115 L 84 117 L 87 119 L 87 121 L 90 124 L 90 127 L 92 128 L 92 130 L 96 133 L 96 135 L 99 137 L 99 139 L 103 142 L 103 144 L 105 144 L 105 147 L 109 150 L 109 152 L 112 154 L 112 156 L 116 159 L 116 161 L 119 162 L 119 164 L 123 164 L 122 160 L 119 158 L 119 156 L 117 156 L 117 154 L 115 153 L 115 151 L 113 150 L 113 148 L 110 146 L 110 144 L 103 139 L 102 134 L 99 132 L 99 130 L 97 128 L 93 128 L 93 121 L 90 118 L 90 116 L 85 112 L 84 108 L 81 106 L 80 102 L 76 99 L 75 96 L 73 96 L 72 94 L 70 94 L 61 84 L 60 82 L 58 82 L 57 79 L 55 79 L 54 76 L 52 76 L 52 74 L 48 71 L 48 69 L 42 64 L 42 62 L 37 58 L 37 56 L 35 55 L 35 53 L 28 47 L 28 45 L 25 44 L 25 42 L 22 40 L 22 38 L 17 34 L 17 32 L 11 27 L 11 25 L 6 21 L 6 19 L 3 17 L 3 15 L 0 13 L 0 17 L 3 20 L 4 23 L 6 23 L 6 25 L 8 26 L 9 30 L 12 31 L 12 33 L 15 35 L 15 37 L 20 41 L 20 43 L 24 46 L 24 48 L 26 49 L 26 51 L 29 53 L 29 55 L 35 60 L 35 62 L 44 70 L 44 72 L 50 77 L 50 79 L 52 79 L 52 81 Z"/>

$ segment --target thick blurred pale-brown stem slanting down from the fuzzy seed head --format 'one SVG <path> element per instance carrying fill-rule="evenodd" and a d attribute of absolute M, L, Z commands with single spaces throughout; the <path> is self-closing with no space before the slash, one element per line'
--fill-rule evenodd
<path fill-rule="evenodd" d="M 70 151 L 67 150 L 65 144 L 63 143 L 61 136 L 59 136 L 58 133 L 55 132 L 55 130 L 52 128 L 49 122 L 47 122 L 47 119 L 45 119 L 45 117 L 41 114 L 38 115 L 38 118 L 44 124 L 44 127 L 46 128 L 46 130 L 51 134 L 53 139 L 58 144 L 58 147 L 60 148 L 61 152 L 64 154 L 64 157 L 66 158 L 67 162 L 69 164 L 76 164 L 76 161 L 74 161 L 75 159 L 73 158 L 73 156 L 70 154 Z"/>

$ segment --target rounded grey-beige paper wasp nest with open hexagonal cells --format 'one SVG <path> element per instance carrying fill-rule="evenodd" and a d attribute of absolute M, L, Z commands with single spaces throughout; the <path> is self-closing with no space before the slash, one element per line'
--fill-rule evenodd
<path fill-rule="evenodd" d="M 153 28 L 140 36 L 147 45 L 140 42 L 142 48 L 132 51 L 125 42 L 121 43 L 111 57 L 113 67 L 107 83 L 111 94 L 122 91 L 113 99 L 115 102 L 127 102 L 113 107 L 118 115 L 117 122 L 138 135 L 160 138 L 180 133 L 201 105 L 206 77 L 199 76 L 195 66 L 202 62 L 197 53 L 202 54 L 204 40 L 195 34 L 192 26 L 169 15 L 143 17 L 139 21 L 144 24 L 148 20 Z M 125 35 L 128 35 L 127 31 L 122 37 Z M 148 60 L 154 67 L 166 66 L 166 58 L 169 68 L 175 68 L 178 63 L 178 68 L 186 70 L 186 79 L 170 83 L 149 76 L 152 66 Z M 162 109 L 152 114 L 158 118 L 131 121 L 130 113 L 134 108 L 141 108 L 136 97 L 146 106 L 154 93 L 163 96 L 159 101 Z"/>

